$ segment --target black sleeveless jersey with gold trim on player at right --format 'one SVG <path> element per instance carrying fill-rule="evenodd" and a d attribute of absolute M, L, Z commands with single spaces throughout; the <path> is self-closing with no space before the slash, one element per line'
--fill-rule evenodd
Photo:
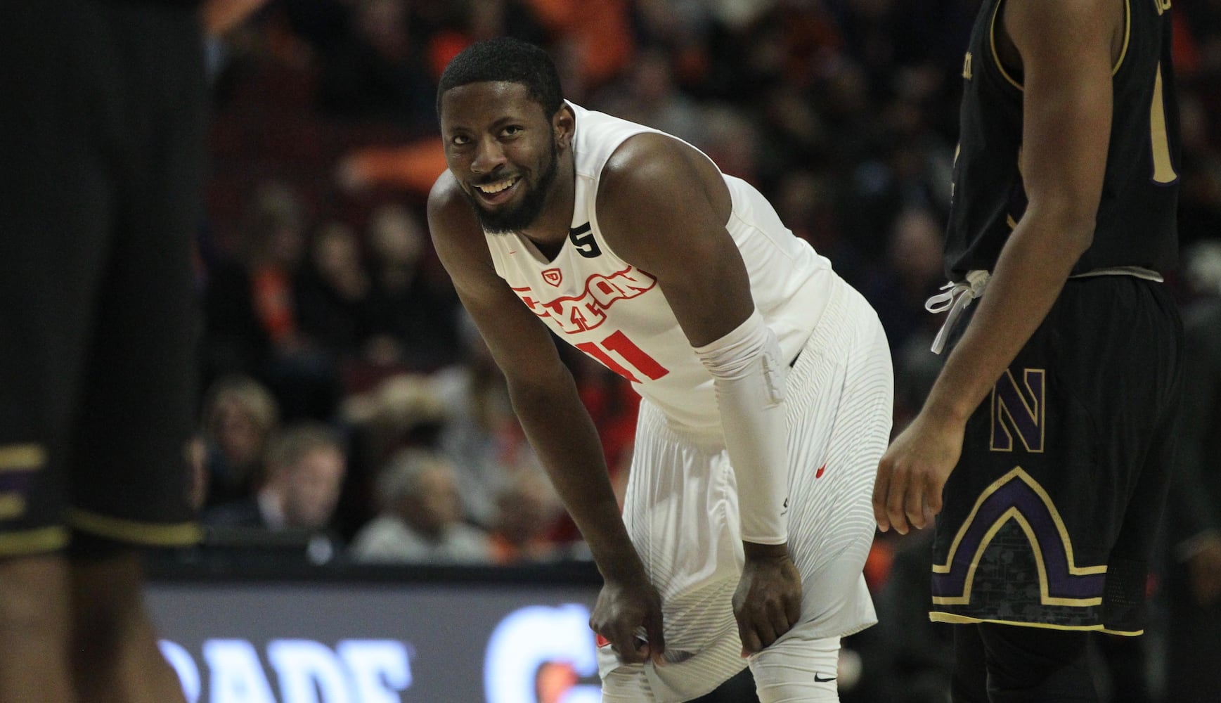
<path fill-rule="evenodd" d="M 945 267 L 961 281 L 991 270 L 1026 211 L 1018 172 L 1022 87 L 1000 62 L 994 32 L 1005 0 L 985 0 L 963 62 L 963 96 Z M 1171 0 L 1126 0 L 1114 72 L 1115 107 L 1098 225 L 1073 273 L 1111 266 L 1168 271 L 1178 250 L 1178 104 L 1171 66 Z"/>

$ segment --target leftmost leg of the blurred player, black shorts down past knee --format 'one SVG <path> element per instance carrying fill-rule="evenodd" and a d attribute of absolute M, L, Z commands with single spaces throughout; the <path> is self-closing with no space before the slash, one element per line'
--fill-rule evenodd
<path fill-rule="evenodd" d="M 94 5 L 0 4 L 0 703 L 74 699 L 63 447 L 112 212 Z"/>

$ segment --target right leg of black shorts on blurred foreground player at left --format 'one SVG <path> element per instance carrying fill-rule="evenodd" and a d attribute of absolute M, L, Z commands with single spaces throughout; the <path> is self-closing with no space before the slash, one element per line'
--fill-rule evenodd
<path fill-rule="evenodd" d="M 127 49 L 129 122 L 123 198 L 70 459 L 71 522 L 112 539 L 175 544 L 195 535 L 183 450 L 197 369 L 190 242 L 201 216 L 199 28 L 194 13 L 170 7 L 110 12 Z"/>

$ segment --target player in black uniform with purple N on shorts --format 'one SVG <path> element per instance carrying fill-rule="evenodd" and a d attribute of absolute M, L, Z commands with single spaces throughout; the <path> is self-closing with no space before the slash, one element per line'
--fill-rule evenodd
<path fill-rule="evenodd" d="M 874 489 L 883 530 L 939 514 L 955 701 L 1095 699 L 1085 631 L 1143 627 L 1181 384 L 1170 5 L 987 0 L 972 32 L 930 300 L 961 338 Z"/>

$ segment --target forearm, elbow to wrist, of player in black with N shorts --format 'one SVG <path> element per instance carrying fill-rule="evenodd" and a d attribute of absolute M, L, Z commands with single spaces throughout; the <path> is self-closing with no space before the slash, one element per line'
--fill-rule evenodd
<path fill-rule="evenodd" d="M 966 422 L 1063 290 L 1089 234 L 1027 212 L 996 261 L 979 309 L 945 362 L 924 413 Z M 1079 226 L 1078 226 L 1079 227 Z"/>

